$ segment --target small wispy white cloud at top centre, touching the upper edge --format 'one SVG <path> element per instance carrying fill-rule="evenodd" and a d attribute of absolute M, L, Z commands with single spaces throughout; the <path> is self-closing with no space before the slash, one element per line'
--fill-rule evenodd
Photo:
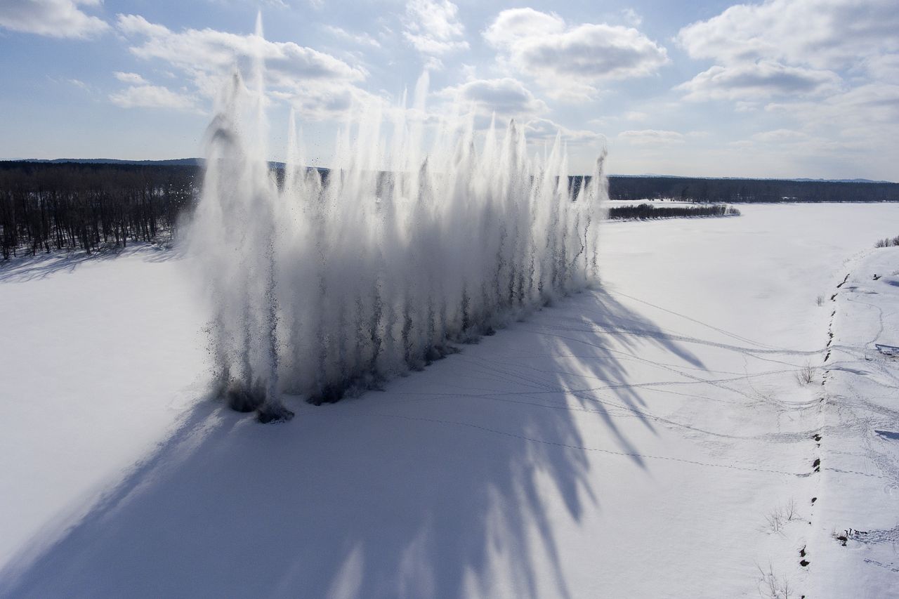
<path fill-rule="evenodd" d="M 440 56 L 468 49 L 458 6 L 449 0 L 409 0 L 403 36 L 424 55 Z"/>

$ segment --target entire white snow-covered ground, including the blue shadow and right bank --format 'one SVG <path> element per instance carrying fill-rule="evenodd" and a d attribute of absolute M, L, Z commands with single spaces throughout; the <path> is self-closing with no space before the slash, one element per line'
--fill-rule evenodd
<path fill-rule="evenodd" d="M 899 596 L 899 204 L 739 208 L 280 425 L 176 253 L 4 266 L 0 596 Z"/>

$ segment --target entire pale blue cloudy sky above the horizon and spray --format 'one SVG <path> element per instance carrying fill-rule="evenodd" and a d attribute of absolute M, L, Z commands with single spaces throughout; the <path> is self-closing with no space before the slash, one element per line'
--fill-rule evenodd
<path fill-rule="evenodd" d="M 573 173 L 899 181 L 895 0 L 0 0 L 0 159 L 202 156 L 257 54 L 275 160 L 291 107 L 326 166 L 427 71 L 428 112 L 560 133 Z"/>

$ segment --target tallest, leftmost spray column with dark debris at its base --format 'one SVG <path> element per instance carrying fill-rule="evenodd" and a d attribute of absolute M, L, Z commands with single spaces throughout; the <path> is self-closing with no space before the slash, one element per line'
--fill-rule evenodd
<path fill-rule="evenodd" d="M 237 411 L 256 411 L 260 421 L 271 422 L 293 413 L 279 397 L 280 197 L 265 157 L 261 18 L 253 40 L 254 89 L 235 70 L 207 131 L 207 168 L 191 251 L 198 255 L 213 307 L 217 392 Z"/>

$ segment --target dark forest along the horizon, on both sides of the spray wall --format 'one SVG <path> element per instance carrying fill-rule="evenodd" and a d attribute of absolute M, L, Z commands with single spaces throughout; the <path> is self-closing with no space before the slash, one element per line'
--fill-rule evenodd
<path fill-rule="evenodd" d="M 192 163 L 192 164 L 191 164 Z M 279 175 L 283 164 L 271 163 Z M 326 171 L 322 169 L 323 174 Z M 180 161 L 0 161 L 0 258 L 55 250 L 87 253 L 171 238 L 200 191 L 201 166 Z M 572 190 L 589 177 L 569 178 Z M 899 183 L 610 176 L 612 200 L 700 203 L 899 201 Z M 659 210 L 659 209 L 655 209 Z M 712 212 L 720 210 L 713 208 Z M 712 212 L 709 212 L 711 214 Z M 627 216 L 625 214 L 628 214 Z M 660 212 L 614 218 L 698 216 Z"/>

